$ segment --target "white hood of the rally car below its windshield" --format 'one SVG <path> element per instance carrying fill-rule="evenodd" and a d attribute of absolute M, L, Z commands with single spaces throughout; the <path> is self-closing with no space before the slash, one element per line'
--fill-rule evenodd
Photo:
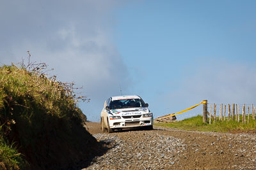
<path fill-rule="evenodd" d="M 118 110 L 109 110 L 112 115 L 141 115 L 144 113 L 149 113 L 148 108 L 124 108 Z"/>

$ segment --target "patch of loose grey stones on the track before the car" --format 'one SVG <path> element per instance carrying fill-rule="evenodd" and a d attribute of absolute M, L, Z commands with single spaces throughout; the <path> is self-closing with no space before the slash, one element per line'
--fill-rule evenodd
<path fill-rule="evenodd" d="M 113 143 L 102 157 L 97 157 L 88 169 L 163 169 L 179 164 L 186 149 L 183 141 L 154 131 L 126 132 L 127 138 L 116 135 L 95 134 L 100 141 Z"/>

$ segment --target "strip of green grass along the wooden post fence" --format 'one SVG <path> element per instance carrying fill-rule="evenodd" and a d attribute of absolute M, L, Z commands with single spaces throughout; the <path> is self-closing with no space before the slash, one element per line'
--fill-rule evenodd
<path fill-rule="evenodd" d="M 247 118 L 247 117 L 246 117 Z M 256 120 L 252 120 L 252 115 L 250 115 L 250 122 L 243 124 L 242 122 L 236 122 L 233 120 L 219 121 L 216 120 L 212 124 L 203 123 L 203 117 L 198 115 L 192 118 L 186 118 L 179 122 L 171 123 L 158 123 L 154 125 L 162 127 L 175 127 L 177 129 L 184 129 L 188 131 L 212 131 L 212 132 L 248 132 L 256 131 Z M 241 117 L 240 117 L 241 121 Z M 208 118 L 209 122 L 209 118 Z"/>

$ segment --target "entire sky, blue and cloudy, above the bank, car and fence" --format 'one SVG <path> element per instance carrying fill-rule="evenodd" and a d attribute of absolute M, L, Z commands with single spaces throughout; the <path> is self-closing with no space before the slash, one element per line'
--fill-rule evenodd
<path fill-rule="evenodd" d="M 155 117 L 209 103 L 255 103 L 255 1 L 1 1 L 0 63 L 47 62 L 92 100 L 138 94 Z M 191 110 L 179 119 L 202 112 Z"/>

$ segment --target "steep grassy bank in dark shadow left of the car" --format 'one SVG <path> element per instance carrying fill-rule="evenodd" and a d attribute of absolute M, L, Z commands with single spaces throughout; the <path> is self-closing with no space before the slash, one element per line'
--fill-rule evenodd
<path fill-rule="evenodd" d="M 84 97 L 45 70 L 44 63 L 0 67 L 0 169 L 74 168 L 101 150 L 77 108 Z"/>

